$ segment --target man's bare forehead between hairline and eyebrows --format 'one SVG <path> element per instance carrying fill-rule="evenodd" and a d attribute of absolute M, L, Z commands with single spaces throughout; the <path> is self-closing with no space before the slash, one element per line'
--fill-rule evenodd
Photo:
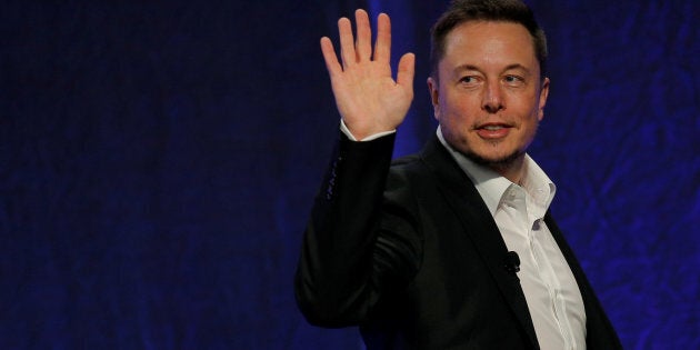
<path fill-rule="evenodd" d="M 503 21 L 469 21 L 447 34 L 441 67 L 487 63 L 539 69 L 532 36 L 522 24 Z"/>

